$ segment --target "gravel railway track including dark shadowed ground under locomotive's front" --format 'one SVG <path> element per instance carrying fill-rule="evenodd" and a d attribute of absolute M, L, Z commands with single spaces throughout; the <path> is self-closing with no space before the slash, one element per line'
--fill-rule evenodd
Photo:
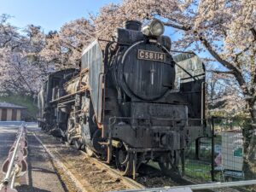
<path fill-rule="evenodd" d="M 191 184 L 188 179 L 163 175 L 154 165 L 143 165 L 136 180 L 124 177 L 102 160 L 89 157 L 84 151 L 76 150 L 68 143 L 61 143 L 38 131 L 35 137 L 44 146 L 61 174 L 71 177 L 78 191 L 111 191 L 123 189 L 144 189 L 162 186 Z M 73 190 L 71 190 L 73 191 Z"/>

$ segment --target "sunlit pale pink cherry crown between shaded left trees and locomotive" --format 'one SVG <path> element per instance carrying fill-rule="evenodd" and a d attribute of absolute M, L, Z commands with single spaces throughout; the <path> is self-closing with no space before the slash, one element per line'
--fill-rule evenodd
<path fill-rule="evenodd" d="M 95 27 L 84 18 L 70 21 L 60 32 L 49 32 L 41 55 L 58 69 L 79 67 L 84 46 L 95 38 Z"/>

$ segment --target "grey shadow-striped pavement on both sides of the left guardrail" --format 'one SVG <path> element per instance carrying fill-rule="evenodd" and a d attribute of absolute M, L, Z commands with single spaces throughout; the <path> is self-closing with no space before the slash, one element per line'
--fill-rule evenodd
<path fill-rule="evenodd" d="M 15 142 L 19 122 L 0 122 L 0 166 L 7 158 L 9 148 Z M 39 131 L 38 125 L 28 123 L 28 131 Z M 32 133 L 27 133 L 28 156 L 26 172 L 27 185 L 17 186 L 19 192 L 66 192 L 68 191 L 49 159 L 49 155 Z M 2 171 L 2 170 L 1 170 Z M 0 172 L 0 181 L 4 175 Z"/>

